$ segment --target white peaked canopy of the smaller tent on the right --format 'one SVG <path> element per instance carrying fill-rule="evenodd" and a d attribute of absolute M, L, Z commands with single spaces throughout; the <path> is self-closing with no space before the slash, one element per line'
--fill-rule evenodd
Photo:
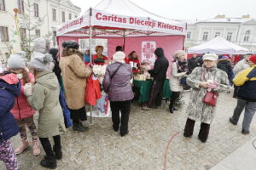
<path fill-rule="evenodd" d="M 250 50 L 228 42 L 223 37 L 215 37 L 209 42 L 188 49 L 189 54 L 248 54 Z"/>

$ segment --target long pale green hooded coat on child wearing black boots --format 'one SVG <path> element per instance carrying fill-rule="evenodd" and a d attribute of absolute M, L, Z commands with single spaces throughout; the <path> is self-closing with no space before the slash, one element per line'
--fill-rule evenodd
<path fill-rule="evenodd" d="M 38 137 L 49 138 L 65 131 L 64 118 L 59 102 L 60 86 L 51 71 L 42 71 L 36 77 L 32 95 L 27 96 L 32 109 L 39 112 Z"/>

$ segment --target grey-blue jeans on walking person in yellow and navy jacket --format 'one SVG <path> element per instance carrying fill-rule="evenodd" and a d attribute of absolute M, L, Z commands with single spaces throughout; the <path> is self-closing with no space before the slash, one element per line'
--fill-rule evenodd
<path fill-rule="evenodd" d="M 245 109 L 245 112 L 242 122 L 242 129 L 245 131 L 249 131 L 250 124 L 256 112 L 256 102 L 249 102 L 243 99 L 237 99 L 236 109 L 232 116 L 233 122 L 237 123 L 239 121 L 239 117 L 241 116 L 241 112 L 243 111 L 243 109 Z"/>

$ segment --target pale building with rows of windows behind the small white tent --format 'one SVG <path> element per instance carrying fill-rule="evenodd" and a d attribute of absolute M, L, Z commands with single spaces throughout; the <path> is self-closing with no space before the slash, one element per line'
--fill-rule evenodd
<path fill-rule="evenodd" d="M 256 20 L 249 15 L 243 15 L 241 18 L 226 18 L 225 15 L 218 15 L 210 20 L 186 20 L 186 22 L 185 49 L 221 36 L 230 42 L 256 51 Z"/>

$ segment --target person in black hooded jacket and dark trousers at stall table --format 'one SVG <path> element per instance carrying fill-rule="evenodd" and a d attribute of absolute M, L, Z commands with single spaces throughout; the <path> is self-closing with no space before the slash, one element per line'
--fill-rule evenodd
<path fill-rule="evenodd" d="M 144 110 L 151 110 L 154 107 L 160 107 L 164 82 L 166 80 L 166 71 L 169 67 L 169 61 L 166 59 L 163 48 L 156 48 L 154 51 L 157 59 L 154 62 L 154 69 L 148 71 L 151 77 L 154 77 L 151 97 L 147 107 Z"/>

